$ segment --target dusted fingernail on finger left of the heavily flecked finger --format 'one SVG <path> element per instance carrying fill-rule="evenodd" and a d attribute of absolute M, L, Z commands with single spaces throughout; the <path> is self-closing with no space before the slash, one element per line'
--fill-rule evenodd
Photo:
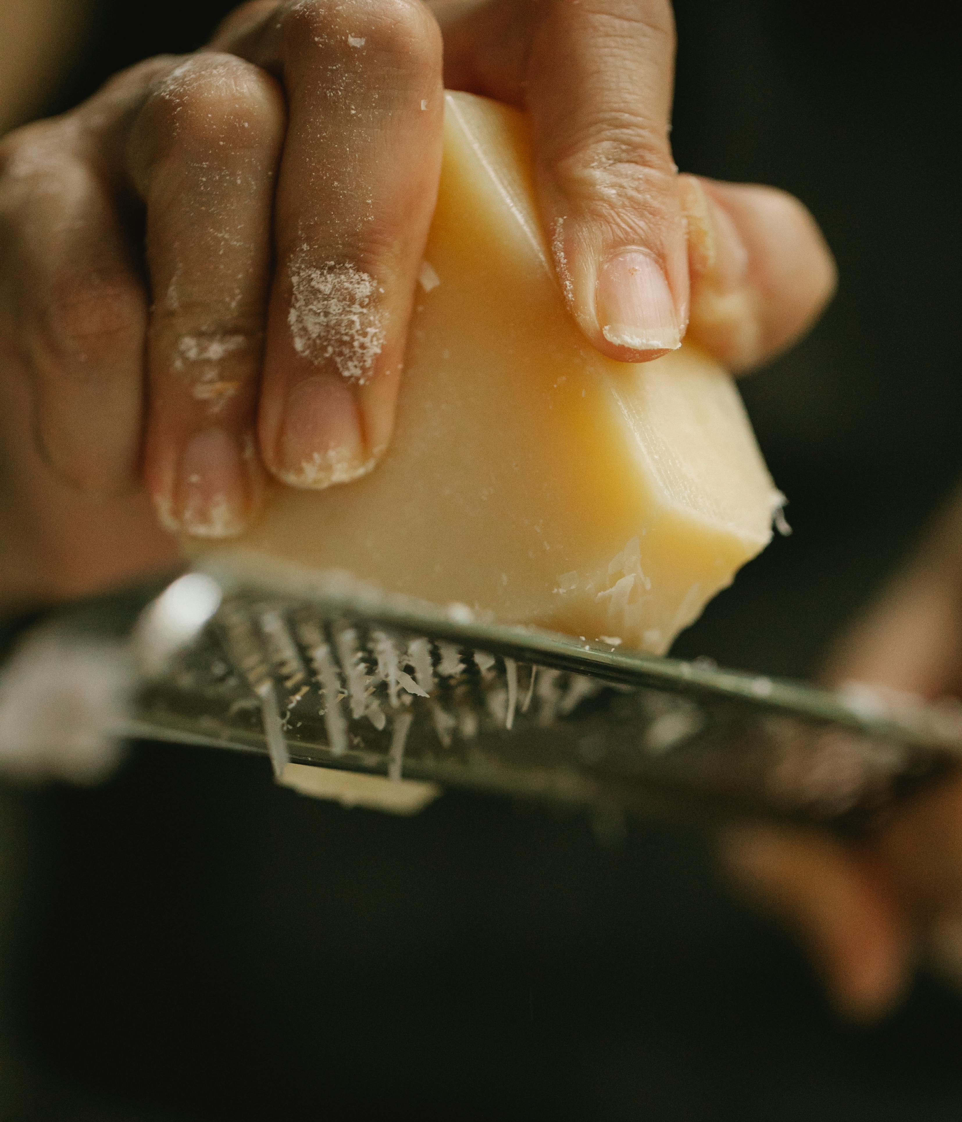
<path fill-rule="evenodd" d="M 247 525 L 252 497 L 238 439 L 205 429 L 184 448 L 165 521 L 192 537 L 233 537 Z"/>

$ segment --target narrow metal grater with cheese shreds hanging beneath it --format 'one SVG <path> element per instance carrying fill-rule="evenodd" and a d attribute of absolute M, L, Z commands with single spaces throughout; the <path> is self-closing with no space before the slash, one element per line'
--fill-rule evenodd
<path fill-rule="evenodd" d="M 399 810 L 462 788 L 859 828 L 962 757 L 962 707 L 620 652 L 262 558 L 214 558 L 157 592 L 43 625 L 113 644 L 126 702 L 109 732 L 266 753 L 342 801 L 369 801 L 373 776 Z M 329 769 L 358 782 L 331 788 Z"/>

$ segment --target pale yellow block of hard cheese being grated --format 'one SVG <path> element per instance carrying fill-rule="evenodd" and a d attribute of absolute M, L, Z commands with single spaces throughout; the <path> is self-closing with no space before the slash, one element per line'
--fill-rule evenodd
<path fill-rule="evenodd" d="M 522 114 L 450 93 L 444 128 L 387 454 L 278 490 L 235 544 L 664 652 L 770 537 L 779 496 L 738 390 L 694 347 L 599 355 L 549 265 Z"/>

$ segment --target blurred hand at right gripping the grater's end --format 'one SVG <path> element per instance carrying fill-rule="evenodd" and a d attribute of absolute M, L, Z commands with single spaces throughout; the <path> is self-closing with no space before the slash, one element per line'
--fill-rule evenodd
<path fill-rule="evenodd" d="M 962 696 L 962 493 L 839 645 L 827 677 Z M 891 1009 L 919 962 L 962 984 L 962 779 L 917 795 L 861 843 L 739 828 L 722 838 L 721 857 L 797 934 L 847 1015 Z"/>

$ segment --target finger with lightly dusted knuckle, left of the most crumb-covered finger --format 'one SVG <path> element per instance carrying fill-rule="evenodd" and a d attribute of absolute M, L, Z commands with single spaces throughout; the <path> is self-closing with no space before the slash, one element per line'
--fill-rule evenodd
<path fill-rule="evenodd" d="M 200 54 L 156 83 L 130 171 L 152 296 L 145 477 L 168 528 L 240 533 L 263 472 L 255 438 L 285 108 L 275 81 Z"/>

